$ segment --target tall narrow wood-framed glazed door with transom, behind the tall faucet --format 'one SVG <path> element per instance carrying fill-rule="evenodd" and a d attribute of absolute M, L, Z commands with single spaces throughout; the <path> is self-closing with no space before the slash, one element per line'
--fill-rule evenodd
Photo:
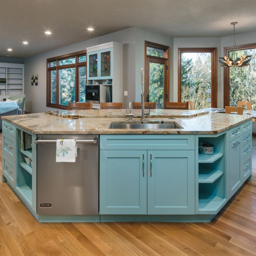
<path fill-rule="evenodd" d="M 169 101 L 169 47 L 145 41 L 145 101 L 163 109 Z"/>

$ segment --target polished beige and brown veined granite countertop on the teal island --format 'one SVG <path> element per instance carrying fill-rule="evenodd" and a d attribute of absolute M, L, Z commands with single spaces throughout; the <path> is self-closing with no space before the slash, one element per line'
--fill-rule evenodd
<path fill-rule="evenodd" d="M 140 111 L 133 110 L 135 116 Z M 252 118 L 251 115 L 205 110 L 157 110 L 151 111 L 152 116 L 146 118 L 146 122 L 176 122 L 183 129 L 109 129 L 111 122 L 128 122 L 125 110 L 64 111 L 65 118 L 53 114 L 57 112 L 63 114 L 63 111 L 53 111 L 50 114 L 3 116 L 2 119 L 34 134 L 216 134 Z M 84 117 L 78 118 L 80 115 Z M 141 121 L 140 118 L 134 118 L 132 122 Z"/>

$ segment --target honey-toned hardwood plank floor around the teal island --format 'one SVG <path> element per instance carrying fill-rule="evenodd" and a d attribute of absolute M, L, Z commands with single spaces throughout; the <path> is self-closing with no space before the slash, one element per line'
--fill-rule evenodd
<path fill-rule="evenodd" d="M 210 223 L 38 223 L 0 182 L 0 256 L 256 255 L 255 177 Z"/>

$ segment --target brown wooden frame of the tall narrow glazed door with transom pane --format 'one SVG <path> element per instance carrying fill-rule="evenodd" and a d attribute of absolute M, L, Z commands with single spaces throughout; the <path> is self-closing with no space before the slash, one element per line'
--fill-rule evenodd
<path fill-rule="evenodd" d="M 157 57 L 157 56 L 151 56 L 147 55 L 147 46 L 149 47 L 154 47 L 157 49 L 164 50 L 164 57 Z M 170 61 L 169 61 L 169 51 L 170 47 L 166 45 L 160 45 L 160 43 L 154 43 L 154 42 L 149 42 L 145 41 L 145 60 L 144 60 L 144 73 L 145 73 L 145 102 L 147 101 L 147 91 L 149 91 L 149 63 L 151 62 L 150 59 L 157 63 L 161 63 L 161 61 L 165 61 L 165 70 L 166 70 L 166 75 L 164 76 L 164 88 L 163 91 L 165 93 L 163 97 L 164 102 L 169 102 L 170 98 L 170 72 L 169 72 L 169 66 L 170 66 Z M 163 63 L 162 63 L 163 64 Z"/>

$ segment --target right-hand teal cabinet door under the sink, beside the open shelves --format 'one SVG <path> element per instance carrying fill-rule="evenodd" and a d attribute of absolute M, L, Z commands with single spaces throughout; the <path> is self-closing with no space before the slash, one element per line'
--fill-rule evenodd
<path fill-rule="evenodd" d="M 195 151 L 147 151 L 147 214 L 195 214 Z"/>

